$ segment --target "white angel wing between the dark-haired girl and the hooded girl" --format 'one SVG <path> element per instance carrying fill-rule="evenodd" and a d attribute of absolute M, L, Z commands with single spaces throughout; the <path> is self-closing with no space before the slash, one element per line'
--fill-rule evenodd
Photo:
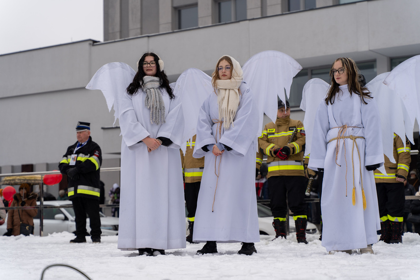
<path fill-rule="evenodd" d="M 184 154 L 187 148 L 187 141 L 191 141 L 196 134 L 200 107 L 213 91 L 211 78 L 196 68 L 185 70 L 176 80 L 174 94 L 181 98 L 185 120 L 183 144 L 181 146 Z"/>

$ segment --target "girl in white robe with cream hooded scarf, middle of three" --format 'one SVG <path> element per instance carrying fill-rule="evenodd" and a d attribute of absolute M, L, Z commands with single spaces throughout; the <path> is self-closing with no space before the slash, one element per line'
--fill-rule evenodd
<path fill-rule="evenodd" d="M 256 252 L 254 242 L 259 242 L 257 108 L 249 86 L 242 82 L 240 65 L 231 56 L 219 59 L 213 85 L 215 92 L 202 104 L 196 128 L 193 156 L 205 156 L 205 163 L 193 240 L 207 242 L 198 254 L 217 252 L 218 241 L 243 242 L 238 253 L 250 255 Z"/>

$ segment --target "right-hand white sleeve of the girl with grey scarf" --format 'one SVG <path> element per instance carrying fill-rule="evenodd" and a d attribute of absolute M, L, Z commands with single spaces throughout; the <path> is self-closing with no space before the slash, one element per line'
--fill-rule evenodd
<path fill-rule="evenodd" d="M 172 141 L 168 148 L 180 149 L 182 143 L 182 135 L 184 133 L 184 115 L 180 98 L 169 101 L 168 115 L 165 116 L 165 122 L 159 128 L 156 137 L 166 137 Z"/>

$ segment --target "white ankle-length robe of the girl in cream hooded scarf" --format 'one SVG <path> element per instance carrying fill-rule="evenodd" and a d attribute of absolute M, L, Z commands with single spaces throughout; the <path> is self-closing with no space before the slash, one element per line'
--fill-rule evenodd
<path fill-rule="evenodd" d="M 242 82 L 239 90 L 239 107 L 229 129 L 217 123 L 219 107 L 214 92 L 199 112 L 193 156 L 205 156 L 205 160 L 194 223 L 195 242 L 260 240 L 255 195 L 258 113 L 249 86 Z M 218 157 L 211 150 L 201 149 L 216 144 L 216 135 L 218 142 L 232 148 Z"/>

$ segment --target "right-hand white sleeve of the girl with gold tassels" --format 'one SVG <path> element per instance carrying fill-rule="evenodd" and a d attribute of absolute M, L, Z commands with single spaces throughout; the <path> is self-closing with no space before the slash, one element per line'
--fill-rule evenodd
<path fill-rule="evenodd" d="M 382 166 L 384 164 L 384 148 L 382 144 L 381 119 L 379 109 L 374 98 L 367 99 L 367 104 L 362 103 L 362 124 L 364 126 L 364 165 Z"/>

